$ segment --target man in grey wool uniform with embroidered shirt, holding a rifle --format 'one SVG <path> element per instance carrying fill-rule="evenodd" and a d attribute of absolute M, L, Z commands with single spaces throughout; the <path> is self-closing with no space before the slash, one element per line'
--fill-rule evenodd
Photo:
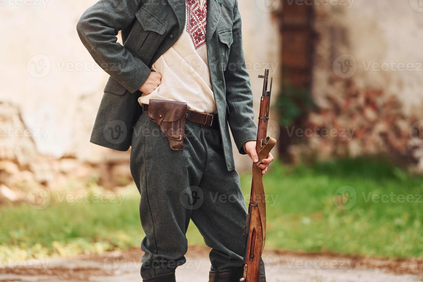
<path fill-rule="evenodd" d="M 258 157 L 237 0 L 99 0 L 77 31 L 110 74 L 91 142 L 132 146 L 143 281 L 175 281 L 190 219 L 212 248 L 209 281 L 238 281 L 247 211 L 229 127 L 238 151 Z"/>

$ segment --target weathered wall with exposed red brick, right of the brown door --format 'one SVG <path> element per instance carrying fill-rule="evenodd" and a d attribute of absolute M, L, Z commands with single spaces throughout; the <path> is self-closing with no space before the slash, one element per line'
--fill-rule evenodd
<path fill-rule="evenodd" d="M 317 110 L 303 125 L 313 133 L 291 153 L 297 160 L 383 153 L 422 170 L 423 11 L 413 1 L 315 2 L 326 3 L 314 5 Z"/>

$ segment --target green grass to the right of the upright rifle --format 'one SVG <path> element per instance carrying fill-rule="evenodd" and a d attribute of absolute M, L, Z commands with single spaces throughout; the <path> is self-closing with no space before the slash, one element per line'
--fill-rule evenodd
<path fill-rule="evenodd" d="M 244 189 L 247 181 L 244 176 Z M 275 166 L 264 182 L 266 193 L 278 197 L 267 208 L 267 247 L 376 257 L 411 257 L 423 250 L 422 176 L 383 161 L 348 159 L 309 168 Z M 348 209 L 334 197 L 342 186 L 356 192 Z M 389 197 L 372 201 L 369 193 Z M 412 203 L 400 203 L 399 194 L 410 195 Z"/>

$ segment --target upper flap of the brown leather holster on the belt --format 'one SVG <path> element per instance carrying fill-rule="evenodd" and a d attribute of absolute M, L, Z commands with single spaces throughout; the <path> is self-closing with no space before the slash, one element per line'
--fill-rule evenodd
<path fill-rule="evenodd" d="M 156 120 L 159 112 L 164 115 L 162 121 L 176 121 L 187 114 L 187 103 L 151 99 L 148 103 L 148 117 Z"/>

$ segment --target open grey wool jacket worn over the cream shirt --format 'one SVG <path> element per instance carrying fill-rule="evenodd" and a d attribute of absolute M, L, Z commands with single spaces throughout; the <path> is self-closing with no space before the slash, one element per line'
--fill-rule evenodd
<path fill-rule="evenodd" d="M 91 142 L 126 151 L 141 115 L 138 90 L 151 65 L 178 39 L 185 24 L 184 0 L 99 0 L 82 14 L 78 35 L 110 78 L 104 88 Z M 256 139 L 253 93 L 242 50 L 238 0 L 208 0 L 206 45 L 222 146 L 228 170 L 235 168 L 233 139 L 240 153 Z M 121 30 L 123 46 L 117 42 Z"/>

